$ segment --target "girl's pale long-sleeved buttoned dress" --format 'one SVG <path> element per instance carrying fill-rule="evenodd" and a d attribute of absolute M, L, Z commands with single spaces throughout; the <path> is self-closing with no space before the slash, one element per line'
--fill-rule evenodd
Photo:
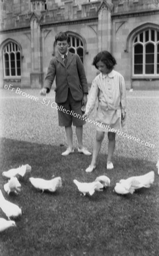
<path fill-rule="evenodd" d="M 96 123 L 97 131 L 115 130 L 127 132 L 126 121 L 122 121 L 122 112 L 126 112 L 126 89 L 124 77 L 112 70 L 108 75 L 100 73 L 91 85 L 86 105 L 86 112 L 90 114 L 98 98 Z M 110 130 L 114 129 L 114 130 Z M 117 132 L 117 131 L 116 131 Z"/>

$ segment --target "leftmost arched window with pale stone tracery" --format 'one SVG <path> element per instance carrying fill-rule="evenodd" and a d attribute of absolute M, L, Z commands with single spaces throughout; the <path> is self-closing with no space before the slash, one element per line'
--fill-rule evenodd
<path fill-rule="evenodd" d="M 10 42 L 3 48 L 4 77 L 20 77 L 20 48 L 16 43 Z"/>

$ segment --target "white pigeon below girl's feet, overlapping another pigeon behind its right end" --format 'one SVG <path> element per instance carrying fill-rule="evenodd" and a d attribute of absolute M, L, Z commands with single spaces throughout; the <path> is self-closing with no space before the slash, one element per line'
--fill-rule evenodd
<path fill-rule="evenodd" d="M 99 181 L 81 183 L 77 180 L 73 180 L 73 182 L 77 185 L 78 190 L 83 194 L 83 196 L 85 196 L 86 193 L 89 193 L 89 195 L 92 196 L 95 191 L 101 191 L 103 189 L 103 185 Z"/>

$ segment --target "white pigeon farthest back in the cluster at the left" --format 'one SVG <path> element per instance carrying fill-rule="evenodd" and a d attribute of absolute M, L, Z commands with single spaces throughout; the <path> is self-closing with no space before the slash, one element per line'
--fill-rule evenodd
<path fill-rule="evenodd" d="M 19 166 L 19 168 L 15 168 L 15 169 L 10 169 L 9 171 L 6 172 L 2 172 L 2 176 L 3 177 L 7 177 L 7 178 L 11 178 L 11 177 L 16 177 L 18 175 L 24 177 L 24 175 L 27 172 L 31 172 L 31 166 L 29 164 L 26 165 L 22 165 L 21 167 Z"/>

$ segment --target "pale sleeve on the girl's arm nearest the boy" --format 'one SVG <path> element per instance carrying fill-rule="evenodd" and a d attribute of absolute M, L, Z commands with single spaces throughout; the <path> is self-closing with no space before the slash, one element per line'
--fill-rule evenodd
<path fill-rule="evenodd" d="M 86 104 L 86 112 L 85 113 L 88 115 L 94 109 L 95 101 L 97 100 L 97 96 L 98 96 L 98 92 L 99 92 L 99 89 L 98 89 L 97 81 L 93 80 L 93 82 L 91 84 L 90 92 L 88 95 L 87 104 Z"/>

